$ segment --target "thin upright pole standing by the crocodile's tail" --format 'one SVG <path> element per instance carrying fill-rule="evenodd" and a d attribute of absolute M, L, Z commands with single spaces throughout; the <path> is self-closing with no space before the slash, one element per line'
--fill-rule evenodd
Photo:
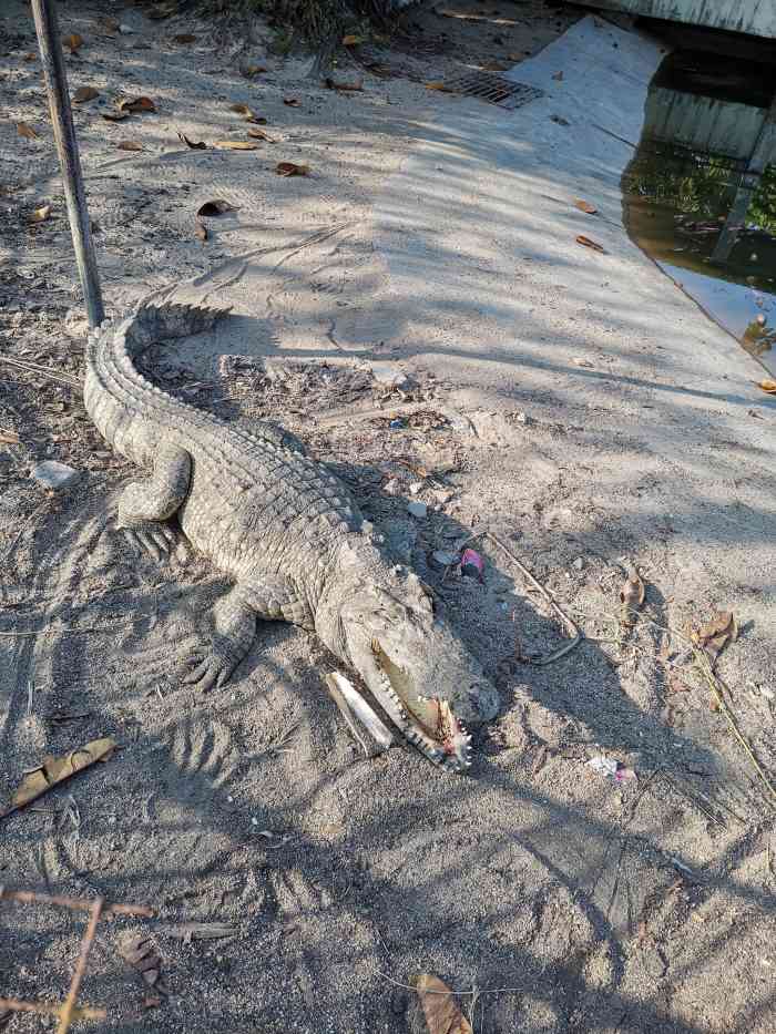
<path fill-rule="evenodd" d="M 83 298 L 86 303 L 86 315 L 89 316 L 89 325 L 98 327 L 105 318 L 105 313 L 102 307 L 100 277 L 92 244 L 86 195 L 83 191 L 81 161 L 78 153 L 75 127 L 73 126 L 73 113 L 70 108 L 68 76 L 64 71 L 54 4 L 55 0 L 32 0 L 32 13 L 35 19 L 43 78 L 45 79 L 45 89 L 51 109 L 51 124 L 57 141 L 64 196 L 68 202 L 70 232 L 73 237 Z"/>

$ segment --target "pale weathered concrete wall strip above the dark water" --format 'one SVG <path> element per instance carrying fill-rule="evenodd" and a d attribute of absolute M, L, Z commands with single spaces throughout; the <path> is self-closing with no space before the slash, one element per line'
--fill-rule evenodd
<path fill-rule="evenodd" d="M 585 7 L 776 39 L 776 0 L 578 0 Z"/>

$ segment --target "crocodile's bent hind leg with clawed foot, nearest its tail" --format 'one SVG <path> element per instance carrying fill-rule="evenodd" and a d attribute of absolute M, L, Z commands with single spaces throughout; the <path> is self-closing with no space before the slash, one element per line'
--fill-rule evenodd
<path fill-rule="evenodd" d="M 161 561 L 175 546 L 176 535 L 165 524 L 182 505 L 188 492 L 192 458 L 177 446 L 161 446 L 153 473 L 133 481 L 119 500 L 119 528 L 132 545 Z"/>

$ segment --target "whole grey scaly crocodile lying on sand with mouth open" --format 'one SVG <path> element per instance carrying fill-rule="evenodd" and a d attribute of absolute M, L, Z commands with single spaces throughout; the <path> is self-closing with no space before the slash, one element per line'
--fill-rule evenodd
<path fill-rule="evenodd" d="M 140 371 L 152 345 L 212 329 L 225 311 L 146 301 L 106 320 L 86 346 L 86 410 L 113 449 L 145 470 L 119 498 L 118 526 L 157 562 L 182 533 L 233 583 L 182 682 L 222 687 L 257 618 L 292 622 L 360 676 L 409 744 L 466 770 L 464 723 L 496 715 L 496 688 L 343 481 L 278 426 L 235 426 Z"/>

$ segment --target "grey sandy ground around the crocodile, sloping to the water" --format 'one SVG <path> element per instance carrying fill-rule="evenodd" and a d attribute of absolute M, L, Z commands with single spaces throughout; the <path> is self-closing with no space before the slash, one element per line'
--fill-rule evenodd
<path fill-rule="evenodd" d="M 76 124 L 109 310 L 171 288 L 232 304 L 212 337 L 151 356 L 154 376 L 222 416 L 278 419 L 333 463 L 503 703 L 471 777 L 455 778 L 402 749 L 360 757 L 323 687 L 330 659 L 287 626 L 261 629 L 226 692 L 182 688 L 171 658 L 223 582 L 196 560 L 134 556 L 112 530 L 132 471 L 78 390 L 3 367 L 0 430 L 19 443 L 0 444 L 0 791 L 47 753 L 106 735 L 120 749 L 3 822 L 0 883 L 156 909 L 98 935 L 83 997 L 108 1007 L 99 1028 L 421 1032 L 400 985 L 426 971 L 508 989 L 462 999 L 478 1032 L 776 1031 L 773 810 L 665 632 L 735 612 L 742 635 L 718 670 L 773 772 L 774 409 L 758 369 L 624 237 L 623 145 L 563 142 L 586 132 L 586 88 L 566 44 L 542 48 L 576 16 L 502 0 L 447 9 L 474 22 L 423 10 L 392 49 L 365 48 L 380 75 L 343 62 L 337 80 L 365 86 L 344 93 L 274 55 L 261 24 L 246 42 L 137 8 L 60 8 L 84 40 L 71 85 L 100 91 Z M 633 48 L 643 89 L 652 44 L 612 42 Z M 1 347 L 78 377 L 84 321 L 25 6 L 4 8 L 0 47 Z M 422 85 L 527 52 L 543 108 L 506 116 Z M 249 64 L 268 71 L 247 81 Z M 127 94 L 157 112 L 100 116 Z M 181 146 L 178 132 L 247 139 L 234 103 L 266 116 L 274 142 Z M 607 98 L 602 124 L 620 119 L 626 136 L 629 103 Z M 127 140 L 143 150 L 118 150 Z M 312 175 L 278 177 L 278 161 Z M 572 184 L 595 191 L 594 233 L 570 214 Z M 235 211 L 202 242 L 195 213 L 216 197 Z M 41 492 L 28 474 L 47 458 L 79 484 Z M 407 515 L 411 487 L 423 522 Z M 481 524 L 586 632 L 561 661 L 530 663 L 563 632 L 489 540 L 482 584 L 429 563 Z M 646 583 L 632 631 L 617 621 L 627 561 Z M 599 755 L 637 779 L 596 772 Z M 237 932 L 187 943 L 177 928 L 192 921 Z M 153 1009 L 121 956 L 139 931 L 162 959 Z M 61 999 L 80 932 L 67 913 L 3 908 L 0 993 Z"/>

